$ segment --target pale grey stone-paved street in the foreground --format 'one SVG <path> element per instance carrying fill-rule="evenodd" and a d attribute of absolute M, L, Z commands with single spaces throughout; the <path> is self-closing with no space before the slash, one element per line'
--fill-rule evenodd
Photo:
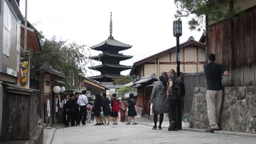
<path fill-rule="evenodd" d="M 149 122 L 146 122 L 149 123 Z M 151 122 L 152 123 L 152 122 Z M 60 143 L 256 143 L 256 138 L 200 133 L 194 131 L 152 130 L 152 126 L 138 124 L 94 125 L 56 129 L 53 144 Z"/>

